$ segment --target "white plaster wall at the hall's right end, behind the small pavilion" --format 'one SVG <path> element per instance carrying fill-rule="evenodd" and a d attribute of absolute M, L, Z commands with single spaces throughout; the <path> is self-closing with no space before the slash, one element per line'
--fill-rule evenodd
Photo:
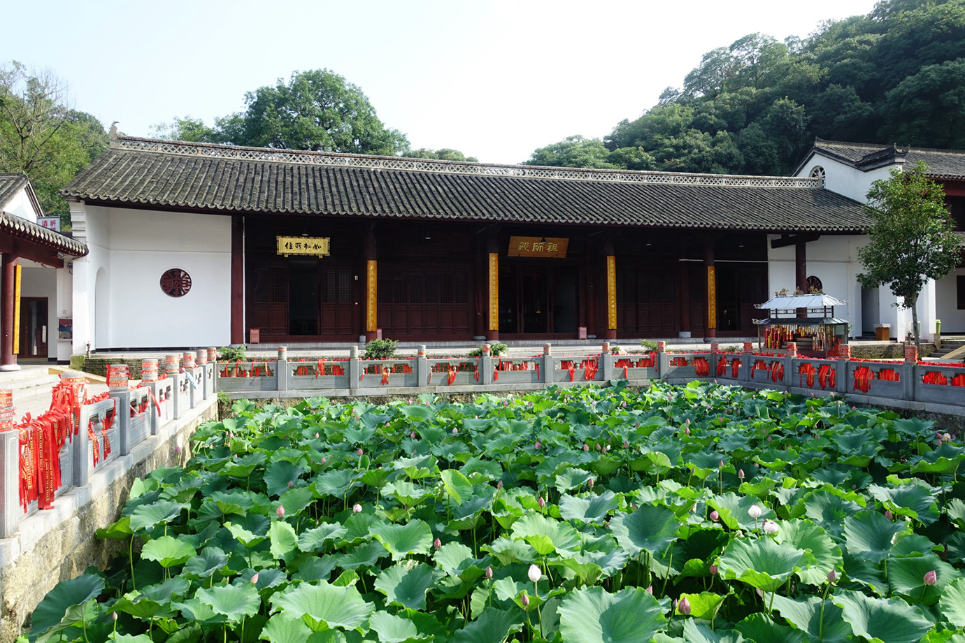
<path fill-rule="evenodd" d="M 770 235 L 768 241 L 779 238 Z M 824 292 L 847 302 L 836 307 L 835 316 L 851 322 L 851 336 L 860 337 L 862 327 L 861 284 L 856 276 L 861 272 L 858 247 L 866 243 L 864 235 L 824 235 L 807 247 L 808 276 L 817 277 Z M 788 294 L 796 288 L 794 246 L 771 248 L 767 244 L 768 294 L 786 288 Z"/>

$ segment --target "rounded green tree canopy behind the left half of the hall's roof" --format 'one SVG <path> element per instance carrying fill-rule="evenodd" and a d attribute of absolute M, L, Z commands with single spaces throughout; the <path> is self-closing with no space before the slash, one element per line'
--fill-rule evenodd
<path fill-rule="evenodd" d="M 162 138 L 237 146 L 396 155 L 409 149 L 378 120 L 369 98 L 328 69 L 295 71 L 286 83 L 245 94 L 245 109 L 209 127 L 191 117 L 156 125 Z"/>

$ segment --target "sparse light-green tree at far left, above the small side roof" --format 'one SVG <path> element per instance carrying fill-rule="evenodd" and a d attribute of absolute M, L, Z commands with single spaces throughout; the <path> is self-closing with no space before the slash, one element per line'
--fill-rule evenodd
<path fill-rule="evenodd" d="M 41 207 L 69 229 L 59 191 L 107 148 L 95 117 L 69 106 L 68 86 L 49 71 L 12 63 L 0 67 L 0 172 L 30 178 Z"/>

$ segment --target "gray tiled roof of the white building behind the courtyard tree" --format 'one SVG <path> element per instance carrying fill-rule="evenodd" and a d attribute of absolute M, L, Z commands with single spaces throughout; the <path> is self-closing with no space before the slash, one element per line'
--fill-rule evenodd
<path fill-rule="evenodd" d="M 915 165 L 918 161 L 924 161 L 928 166 L 929 176 L 935 178 L 965 178 L 965 151 L 960 149 L 899 147 L 816 139 L 812 151 L 838 158 L 865 171 L 905 163 Z"/>

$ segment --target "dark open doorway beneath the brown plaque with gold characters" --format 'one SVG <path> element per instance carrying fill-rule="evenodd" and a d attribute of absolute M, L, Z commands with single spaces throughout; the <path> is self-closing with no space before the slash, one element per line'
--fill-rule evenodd
<path fill-rule="evenodd" d="M 499 271 L 499 317 L 505 335 L 576 335 L 579 269 L 504 265 Z"/>

